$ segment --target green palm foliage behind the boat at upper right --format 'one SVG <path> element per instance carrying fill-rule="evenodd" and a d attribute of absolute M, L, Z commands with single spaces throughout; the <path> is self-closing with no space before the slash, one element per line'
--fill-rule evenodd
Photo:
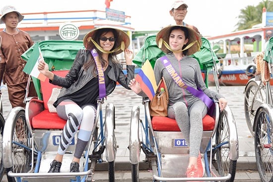
<path fill-rule="evenodd" d="M 245 30 L 252 28 L 253 25 L 262 23 L 263 8 L 266 7 L 267 11 L 273 12 L 273 0 L 262 0 L 257 6 L 248 5 L 238 16 L 239 21 L 236 24 L 237 30 Z"/>

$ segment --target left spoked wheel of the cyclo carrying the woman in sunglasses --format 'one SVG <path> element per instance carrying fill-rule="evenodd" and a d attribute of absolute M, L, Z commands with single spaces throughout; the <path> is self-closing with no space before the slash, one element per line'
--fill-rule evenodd
<path fill-rule="evenodd" d="M 31 151 L 22 147 L 30 147 L 30 132 L 27 127 L 25 112 L 23 110 L 19 111 L 16 115 L 11 131 L 13 131 L 10 132 L 12 134 L 11 155 L 13 166 L 6 169 L 6 176 L 8 182 L 16 182 L 16 178 L 7 175 L 9 171 L 12 171 L 13 173 L 27 173 L 31 168 Z"/>

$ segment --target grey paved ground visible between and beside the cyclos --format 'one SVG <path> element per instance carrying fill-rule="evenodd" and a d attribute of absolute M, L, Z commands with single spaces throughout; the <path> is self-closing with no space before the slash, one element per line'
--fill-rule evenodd
<path fill-rule="evenodd" d="M 214 89 L 214 87 L 210 87 Z M 2 88 L 3 93 L 3 116 L 7 116 L 11 107 L 7 100 L 6 89 Z M 260 181 L 259 175 L 257 173 L 256 163 L 255 163 L 255 153 L 254 153 L 254 138 L 250 134 L 244 116 L 244 86 L 222 86 L 220 87 L 220 93 L 222 93 L 228 100 L 228 105 L 232 110 L 234 115 L 239 138 L 239 159 L 236 173 L 236 182 L 258 182 Z M 128 91 L 121 86 L 118 86 L 116 90 L 108 96 L 106 100 L 107 103 L 113 103 L 115 105 L 115 117 L 116 117 L 116 138 L 119 144 L 117 151 L 118 162 L 129 162 L 129 128 L 130 128 L 130 114 L 133 106 L 138 105 L 140 107 L 140 118 L 144 118 L 143 106 L 141 104 L 142 98 L 138 97 L 132 91 Z M 106 106 L 104 104 L 104 108 Z M 125 137 L 126 136 L 126 137 Z M 117 166 L 116 170 L 123 170 L 116 172 L 117 182 L 120 180 L 122 182 L 131 181 L 130 171 L 124 171 L 130 169 L 130 166 L 123 165 Z M 142 176 L 143 175 L 143 176 Z M 107 181 L 107 172 L 95 172 L 96 182 Z M 106 178 L 106 179 L 105 179 Z M 141 182 L 150 182 L 151 173 L 143 170 L 140 173 Z M 6 178 L 3 179 L 6 182 Z"/>

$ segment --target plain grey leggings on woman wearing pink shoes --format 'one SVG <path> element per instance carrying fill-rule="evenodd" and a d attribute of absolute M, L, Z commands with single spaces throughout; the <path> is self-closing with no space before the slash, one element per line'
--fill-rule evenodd
<path fill-rule="evenodd" d="M 190 147 L 190 157 L 198 157 L 203 134 L 202 119 L 207 113 L 207 107 L 201 100 L 187 108 L 183 102 L 177 102 L 168 107 L 168 118 L 175 119 L 185 140 Z"/>

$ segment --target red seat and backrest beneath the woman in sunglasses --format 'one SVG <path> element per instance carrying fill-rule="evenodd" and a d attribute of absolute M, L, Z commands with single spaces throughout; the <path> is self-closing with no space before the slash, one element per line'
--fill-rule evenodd
<path fill-rule="evenodd" d="M 68 70 L 52 71 L 54 74 L 65 77 Z M 51 96 L 53 88 L 60 88 L 58 85 L 49 83 L 47 78 L 41 81 L 41 92 L 43 94 L 43 102 L 45 110 L 32 118 L 32 127 L 35 129 L 63 129 L 67 121 L 61 119 L 57 113 L 50 113 L 48 110 L 48 100 Z"/>

